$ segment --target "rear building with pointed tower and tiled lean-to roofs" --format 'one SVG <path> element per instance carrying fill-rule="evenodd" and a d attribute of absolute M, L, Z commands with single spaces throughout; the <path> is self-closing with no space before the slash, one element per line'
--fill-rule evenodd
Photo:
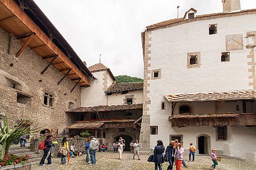
<path fill-rule="evenodd" d="M 96 79 L 81 90 L 81 108 L 67 111 L 77 122 L 70 127 L 71 137 L 89 131 L 110 150 L 119 137 L 126 143 L 139 138 L 142 116 L 143 83 L 117 83 L 110 69 L 99 63 L 89 67 Z M 129 150 L 129 145 L 125 146 Z"/>

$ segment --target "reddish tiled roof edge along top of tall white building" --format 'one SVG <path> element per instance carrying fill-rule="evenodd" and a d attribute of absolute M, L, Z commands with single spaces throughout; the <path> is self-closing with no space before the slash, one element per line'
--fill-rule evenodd
<path fill-rule="evenodd" d="M 176 26 L 176 25 L 181 25 L 183 23 L 193 22 L 193 21 L 210 20 L 210 19 L 222 18 L 222 17 L 240 16 L 240 15 L 244 15 L 244 14 L 253 14 L 255 12 L 256 12 L 256 9 L 246 9 L 246 10 L 242 10 L 239 12 L 229 12 L 229 13 L 221 12 L 221 13 L 203 14 L 203 15 L 199 15 L 194 18 L 187 19 L 187 20 L 184 20 L 183 18 L 175 18 L 173 20 L 167 20 L 167 21 L 163 21 L 163 22 L 159 22 L 159 23 L 147 26 L 147 30 L 151 30 L 153 28 L 160 28 L 160 27 L 166 28 L 169 25 L 173 25 L 173 24 L 175 24 L 174 26 Z"/>

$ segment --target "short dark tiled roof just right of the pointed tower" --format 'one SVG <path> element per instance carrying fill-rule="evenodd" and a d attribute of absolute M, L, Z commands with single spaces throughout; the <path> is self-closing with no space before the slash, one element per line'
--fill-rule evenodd
<path fill-rule="evenodd" d="M 106 89 L 106 93 L 113 93 L 118 91 L 129 90 L 143 90 L 143 82 L 117 82 Z"/>

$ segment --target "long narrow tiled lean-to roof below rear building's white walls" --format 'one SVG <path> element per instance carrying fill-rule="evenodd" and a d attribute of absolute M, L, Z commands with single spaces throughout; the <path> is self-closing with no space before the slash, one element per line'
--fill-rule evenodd
<path fill-rule="evenodd" d="M 142 109 L 142 104 L 123 104 L 123 105 L 110 105 L 110 106 L 82 107 L 82 108 L 75 108 L 75 109 L 68 110 L 66 111 L 66 113 L 129 110 L 129 109 Z"/>

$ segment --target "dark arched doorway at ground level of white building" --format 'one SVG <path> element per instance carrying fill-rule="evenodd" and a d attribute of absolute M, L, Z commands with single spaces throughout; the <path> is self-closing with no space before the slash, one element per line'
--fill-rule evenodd
<path fill-rule="evenodd" d="M 207 134 L 198 135 L 197 146 L 199 154 L 209 154 L 211 150 L 211 137 Z"/>

